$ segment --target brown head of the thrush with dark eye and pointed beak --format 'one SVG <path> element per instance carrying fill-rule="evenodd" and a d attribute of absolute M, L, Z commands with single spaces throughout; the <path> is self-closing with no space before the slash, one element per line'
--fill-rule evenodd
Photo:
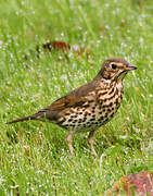
<path fill-rule="evenodd" d="M 128 71 L 136 69 L 137 66 L 129 64 L 126 60 L 114 58 L 104 61 L 99 75 L 104 79 L 119 82 Z"/>

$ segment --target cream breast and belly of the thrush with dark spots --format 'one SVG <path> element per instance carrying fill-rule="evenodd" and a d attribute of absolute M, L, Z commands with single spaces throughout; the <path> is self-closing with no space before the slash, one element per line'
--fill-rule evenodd
<path fill-rule="evenodd" d="M 59 125 L 73 132 L 82 132 L 97 128 L 109 122 L 120 106 L 123 85 L 100 82 L 94 91 L 87 95 L 81 107 L 75 106 L 62 113 Z"/>

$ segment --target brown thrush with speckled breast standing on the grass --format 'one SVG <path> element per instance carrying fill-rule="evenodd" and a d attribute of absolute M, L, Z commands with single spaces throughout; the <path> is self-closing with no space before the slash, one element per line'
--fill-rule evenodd
<path fill-rule="evenodd" d="M 111 121 L 117 112 L 124 95 L 123 79 L 129 71 L 136 69 L 136 65 L 128 63 L 125 59 L 107 59 L 91 82 L 72 90 L 37 113 L 7 122 L 7 124 L 48 120 L 68 131 L 66 140 L 72 155 L 74 155 L 72 144 L 74 134 L 89 132 L 88 144 L 91 152 L 97 157 L 93 146 L 94 133 L 100 126 Z"/>

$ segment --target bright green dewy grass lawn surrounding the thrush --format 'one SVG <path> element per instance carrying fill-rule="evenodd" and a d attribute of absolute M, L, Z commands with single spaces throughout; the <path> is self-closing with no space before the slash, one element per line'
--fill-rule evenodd
<path fill-rule="evenodd" d="M 153 171 L 152 1 L 1 0 L 0 19 L 0 195 L 101 195 L 123 175 Z M 67 60 L 41 48 L 37 59 L 47 40 L 92 54 L 67 52 Z M 95 134 L 99 160 L 87 134 L 75 135 L 71 157 L 67 132 L 51 123 L 4 124 L 91 81 L 111 57 L 139 69 L 125 78 L 119 111 Z"/>

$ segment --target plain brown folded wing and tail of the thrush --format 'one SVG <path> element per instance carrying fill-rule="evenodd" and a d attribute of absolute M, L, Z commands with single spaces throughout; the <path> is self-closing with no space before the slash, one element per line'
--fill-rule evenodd
<path fill-rule="evenodd" d="M 48 119 L 50 121 L 56 121 L 60 117 L 62 111 L 67 110 L 71 107 L 81 107 L 85 105 L 90 97 L 90 93 L 95 90 L 97 81 L 92 81 L 81 87 L 76 88 L 75 90 L 71 91 L 68 95 L 58 99 L 49 107 L 39 110 L 37 113 L 13 120 L 10 123 L 16 123 L 21 121 L 28 121 L 28 120 L 44 120 Z M 92 96 L 91 96 L 92 97 Z"/>

